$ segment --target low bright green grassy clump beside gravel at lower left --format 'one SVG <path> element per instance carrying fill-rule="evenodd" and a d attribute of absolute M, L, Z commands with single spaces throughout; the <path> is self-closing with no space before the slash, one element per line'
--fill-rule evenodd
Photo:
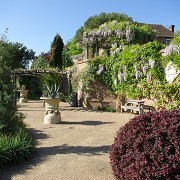
<path fill-rule="evenodd" d="M 23 122 L 24 118 L 23 113 L 17 112 L 11 118 L 8 128 L 0 133 L 0 169 L 29 159 L 35 150 L 34 142 Z"/>

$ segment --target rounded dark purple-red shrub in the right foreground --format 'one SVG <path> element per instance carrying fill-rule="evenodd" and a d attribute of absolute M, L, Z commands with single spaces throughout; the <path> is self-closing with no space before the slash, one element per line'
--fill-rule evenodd
<path fill-rule="evenodd" d="M 148 112 L 119 129 L 110 147 L 117 179 L 180 179 L 180 111 Z"/>

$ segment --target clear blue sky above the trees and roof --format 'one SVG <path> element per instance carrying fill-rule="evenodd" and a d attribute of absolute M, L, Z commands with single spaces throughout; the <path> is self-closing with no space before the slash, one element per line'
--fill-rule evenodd
<path fill-rule="evenodd" d="M 180 30 L 180 0 L 0 0 L 0 34 L 36 55 L 50 50 L 59 33 L 64 43 L 84 22 L 101 12 L 125 13 L 134 21 L 175 25 Z"/>

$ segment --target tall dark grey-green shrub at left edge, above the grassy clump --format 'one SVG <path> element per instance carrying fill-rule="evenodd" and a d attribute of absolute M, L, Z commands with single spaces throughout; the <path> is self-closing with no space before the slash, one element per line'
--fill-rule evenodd
<path fill-rule="evenodd" d="M 11 68 L 7 66 L 9 59 L 12 59 L 12 54 L 8 53 L 4 42 L 0 41 L 0 134 L 8 129 L 16 112 Z"/>

